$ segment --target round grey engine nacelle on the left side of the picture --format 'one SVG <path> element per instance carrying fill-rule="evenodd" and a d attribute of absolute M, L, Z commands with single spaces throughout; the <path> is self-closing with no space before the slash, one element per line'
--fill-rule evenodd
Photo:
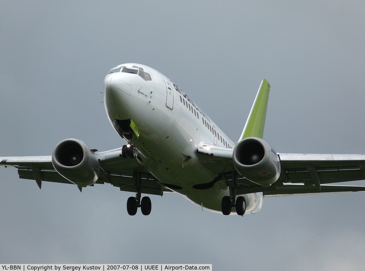
<path fill-rule="evenodd" d="M 96 182 L 99 161 L 81 140 L 68 138 L 59 142 L 52 153 L 54 169 L 70 182 L 87 187 Z"/>

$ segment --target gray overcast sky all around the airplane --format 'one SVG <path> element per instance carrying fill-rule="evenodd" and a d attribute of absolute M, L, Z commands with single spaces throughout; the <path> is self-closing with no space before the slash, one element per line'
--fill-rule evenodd
<path fill-rule="evenodd" d="M 277 152 L 365 153 L 364 14 L 363 1 L 1 1 L 0 156 L 50 155 L 69 137 L 123 145 L 100 91 L 125 62 L 164 73 L 233 141 L 266 78 Z M 0 180 L 1 263 L 365 265 L 365 193 L 266 198 L 243 218 L 166 194 L 130 217 L 132 194 L 107 184 Z"/>

